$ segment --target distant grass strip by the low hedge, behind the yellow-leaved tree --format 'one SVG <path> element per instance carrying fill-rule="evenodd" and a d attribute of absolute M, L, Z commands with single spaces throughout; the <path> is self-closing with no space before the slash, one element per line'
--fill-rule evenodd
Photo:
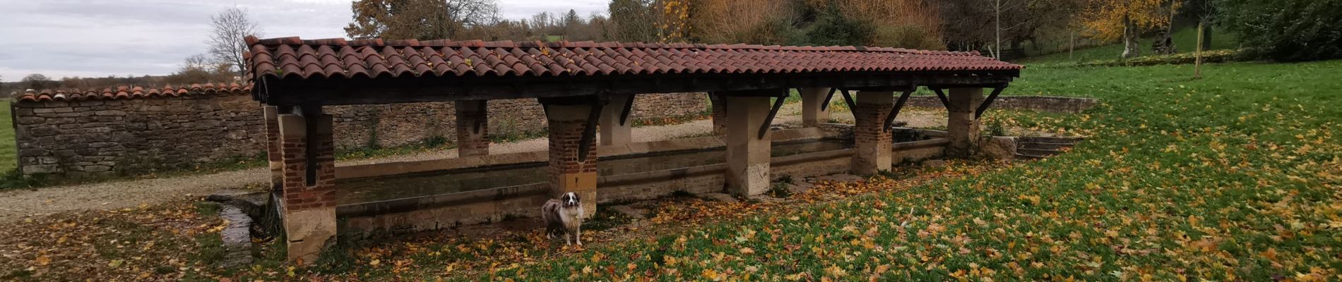
<path fill-rule="evenodd" d="M 1174 32 L 1174 47 L 1178 48 L 1181 53 L 1193 52 L 1197 48 L 1197 28 L 1185 28 Z M 1237 48 L 1237 41 L 1231 33 L 1224 33 L 1223 29 L 1212 29 L 1212 45 L 1208 49 L 1233 49 Z M 1151 39 L 1142 39 L 1138 44 L 1142 49 L 1142 55 L 1151 55 Z M 1067 52 L 1032 56 L 1020 59 L 1013 63 L 1024 64 L 1057 64 L 1057 63 L 1079 63 L 1079 61 L 1095 61 L 1095 60 L 1115 60 L 1122 59 L 1123 44 L 1099 45 L 1084 49 L 1076 49 L 1075 53 L 1068 56 Z"/>

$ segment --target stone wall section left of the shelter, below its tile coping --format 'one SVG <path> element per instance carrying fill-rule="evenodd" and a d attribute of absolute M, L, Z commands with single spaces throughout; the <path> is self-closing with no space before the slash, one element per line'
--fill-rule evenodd
<path fill-rule="evenodd" d="M 25 175 L 149 172 L 259 156 L 260 107 L 246 95 L 13 103 Z"/>

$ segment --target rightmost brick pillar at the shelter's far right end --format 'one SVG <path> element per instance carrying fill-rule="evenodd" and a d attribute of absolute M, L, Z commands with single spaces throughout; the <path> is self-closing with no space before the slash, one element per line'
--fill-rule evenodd
<path fill-rule="evenodd" d="M 974 119 L 974 110 L 984 102 L 984 88 L 951 88 L 949 95 L 946 131 L 950 144 L 946 146 L 946 156 L 969 158 L 978 146 L 978 119 Z"/>

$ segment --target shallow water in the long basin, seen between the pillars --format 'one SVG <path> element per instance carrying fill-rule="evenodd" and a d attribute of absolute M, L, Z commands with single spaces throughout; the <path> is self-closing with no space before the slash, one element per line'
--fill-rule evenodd
<path fill-rule="evenodd" d="M 851 147 L 852 143 L 839 140 L 778 143 L 773 146 L 769 155 L 789 156 Z M 597 174 L 601 176 L 637 174 L 725 163 L 726 154 L 726 148 L 710 148 L 601 158 L 596 167 Z M 340 204 L 350 204 L 539 183 L 548 180 L 549 175 L 546 171 L 546 163 L 523 163 L 506 167 L 483 167 L 338 180 L 336 184 L 338 198 L 337 202 L 340 202 Z"/>

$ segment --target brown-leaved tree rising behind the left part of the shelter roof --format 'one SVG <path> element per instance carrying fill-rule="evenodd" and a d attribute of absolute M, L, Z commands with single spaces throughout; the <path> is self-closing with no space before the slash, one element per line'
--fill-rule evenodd
<path fill-rule="evenodd" d="M 454 39 L 484 25 L 498 12 L 494 0 L 358 0 L 345 33 L 354 39 Z"/>

